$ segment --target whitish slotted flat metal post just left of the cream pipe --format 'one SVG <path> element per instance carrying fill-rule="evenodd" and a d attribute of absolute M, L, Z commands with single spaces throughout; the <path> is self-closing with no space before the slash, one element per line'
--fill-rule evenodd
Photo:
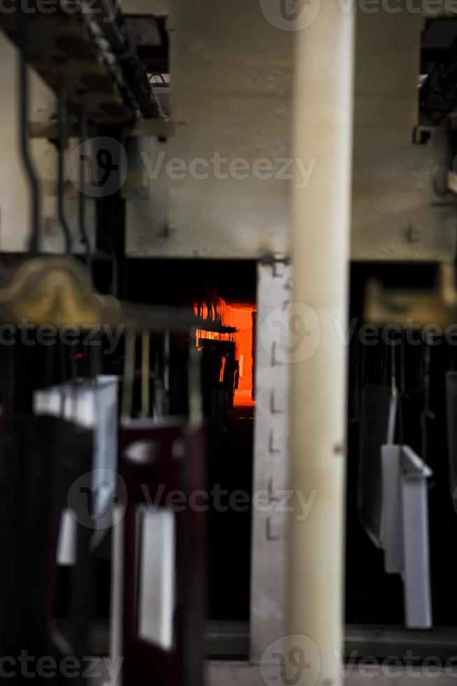
<path fill-rule="evenodd" d="M 280 350 L 280 327 L 287 325 L 291 269 L 285 262 L 259 263 L 257 269 L 256 420 L 254 423 L 254 498 L 252 508 L 252 580 L 250 661 L 284 636 L 289 452 L 287 417 L 289 365 Z M 275 325 L 276 324 L 276 325 Z M 265 659 L 265 657 L 263 657 Z M 277 661 L 275 661 L 276 664 Z"/>

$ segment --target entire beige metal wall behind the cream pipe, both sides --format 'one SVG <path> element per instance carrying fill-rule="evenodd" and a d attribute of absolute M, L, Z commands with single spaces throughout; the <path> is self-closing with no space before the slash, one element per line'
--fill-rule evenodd
<path fill-rule="evenodd" d="M 243 20 L 240 22 L 240 16 Z M 412 144 L 419 97 L 421 15 L 358 12 L 351 258 L 449 260 L 456 204 L 433 192 L 437 151 Z M 180 158 L 275 160 L 290 155 L 293 31 L 258 3 L 171 3 L 175 137 L 154 164 Z M 312 151 L 310 151 L 312 158 Z M 138 150 L 133 154 L 138 164 Z M 319 165 L 319 160 L 317 160 Z M 260 258 L 289 253 L 289 184 L 279 179 L 168 178 L 127 207 L 132 256 Z M 159 200 L 158 200 L 158 197 Z"/>

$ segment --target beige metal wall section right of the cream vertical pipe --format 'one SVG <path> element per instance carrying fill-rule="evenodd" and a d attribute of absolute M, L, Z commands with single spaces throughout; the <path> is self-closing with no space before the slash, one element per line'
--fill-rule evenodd
<path fill-rule="evenodd" d="M 412 144 L 423 19 L 402 9 L 358 12 L 354 260 L 447 260 L 456 249 L 456 206 L 433 192 L 433 143 Z"/>

